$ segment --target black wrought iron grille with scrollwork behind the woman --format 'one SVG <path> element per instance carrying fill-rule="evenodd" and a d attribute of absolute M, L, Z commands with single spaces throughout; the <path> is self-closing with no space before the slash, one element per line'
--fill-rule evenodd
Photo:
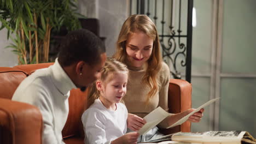
<path fill-rule="evenodd" d="M 158 28 L 162 57 L 174 79 L 182 79 L 184 72 L 188 82 L 191 81 L 192 11 L 193 0 L 130 0 L 130 15 L 146 14 Z M 183 26 L 184 23 L 187 25 Z"/>

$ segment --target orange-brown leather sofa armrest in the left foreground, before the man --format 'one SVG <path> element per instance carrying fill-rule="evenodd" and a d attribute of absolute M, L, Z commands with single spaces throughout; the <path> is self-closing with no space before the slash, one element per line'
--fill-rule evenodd
<path fill-rule="evenodd" d="M 36 106 L 0 98 L 0 143 L 42 143 L 43 119 Z"/>

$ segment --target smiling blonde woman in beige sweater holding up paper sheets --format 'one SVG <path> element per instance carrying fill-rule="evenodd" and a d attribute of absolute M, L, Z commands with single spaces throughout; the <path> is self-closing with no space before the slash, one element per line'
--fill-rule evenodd
<path fill-rule="evenodd" d="M 143 117 L 156 107 L 168 111 L 168 85 L 170 71 L 162 61 L 158 32 L 146 15 L 131 15 L 124 22 L 117 41 L 114 58 L 127 65 L 130 73 L 124 102 L 129 112 L 127 128 L 138 131 L 145 123 Z M 158 127 L 167 128 L 181 117 L 194 111 L 189 109 L 164 119 Z M 200 122 L 203 109 L 189 117 L 190 122 Z M 139 141 L 161 135 L 155 127 Z"/>

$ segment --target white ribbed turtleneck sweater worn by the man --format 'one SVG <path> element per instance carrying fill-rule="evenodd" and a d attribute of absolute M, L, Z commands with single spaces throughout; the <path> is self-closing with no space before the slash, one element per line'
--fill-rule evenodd
<path fill-rule="evenodd" d="M 43 116 L 43 144 L 63 144 L 61 131 L 67 121 L 69 91 L 76 88 L 59 62 L 36 70 L 22 81 L 12 100 L 38 107 Z"/>

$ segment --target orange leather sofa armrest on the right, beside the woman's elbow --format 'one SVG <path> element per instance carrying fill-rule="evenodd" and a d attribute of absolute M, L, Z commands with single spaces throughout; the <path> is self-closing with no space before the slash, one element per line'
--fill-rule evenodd
<path fill-rule="evenodd" d="M 180 79 L 170 79 L 168 88 L 168 107 L 170 113 L 179 113 L 191 109 L 191 83 Z M 177 125 L 174 128 L 162 129 L 164 134 L 177 133 L 179 131 L 189 132 L 190 122 Z"/>

